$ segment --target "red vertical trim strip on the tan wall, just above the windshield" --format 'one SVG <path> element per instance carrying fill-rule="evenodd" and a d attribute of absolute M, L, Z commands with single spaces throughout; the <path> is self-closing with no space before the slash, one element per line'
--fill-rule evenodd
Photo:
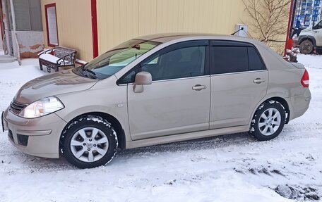
<path fill-rule="evenodd" d="M 97 6 L 96 0 L 90 1 L 90 11 L 92 16 L 92 35 L 93 35 L 93 58 L 98 56 L 98 39 L 97 39 Z"/>

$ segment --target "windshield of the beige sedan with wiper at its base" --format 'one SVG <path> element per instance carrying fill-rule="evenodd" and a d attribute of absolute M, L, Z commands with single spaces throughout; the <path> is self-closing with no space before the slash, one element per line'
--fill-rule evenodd
<path fill-rule="evenodd" d="M 159 44 L 159 42 L 131 39 L 103 53 L 90 63 L 74 68 L 73 72 L 85 77 L 105 79 Z"/>

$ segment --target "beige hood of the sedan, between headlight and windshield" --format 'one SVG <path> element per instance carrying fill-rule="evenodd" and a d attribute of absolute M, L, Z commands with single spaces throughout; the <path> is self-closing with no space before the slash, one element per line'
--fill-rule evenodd
<path fill-rule="evenodd" d="M 64 70 L 27 82 L 19 89 L 15 99 L 20 103 L 32 103 L 48 96 L 90 89 L 98 81 Z"/>

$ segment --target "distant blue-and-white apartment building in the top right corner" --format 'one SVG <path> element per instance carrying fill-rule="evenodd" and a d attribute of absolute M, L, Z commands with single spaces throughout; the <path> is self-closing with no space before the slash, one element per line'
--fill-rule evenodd
<path fill-rule="evenodd" d="M 309 27 L 311 23 L 321 20 L 321 6 L 322 0 L 297 0 L 294 25 L 299 20 L 304 27 Z"/>

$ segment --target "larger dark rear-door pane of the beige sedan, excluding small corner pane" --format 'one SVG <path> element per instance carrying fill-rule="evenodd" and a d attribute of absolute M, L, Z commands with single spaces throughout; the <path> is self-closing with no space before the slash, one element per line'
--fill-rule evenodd
<path fill-rule="evenodd" d="M 245 72 L 249 70 L 247 47 L 213 46 L 211 74 Z"/>

